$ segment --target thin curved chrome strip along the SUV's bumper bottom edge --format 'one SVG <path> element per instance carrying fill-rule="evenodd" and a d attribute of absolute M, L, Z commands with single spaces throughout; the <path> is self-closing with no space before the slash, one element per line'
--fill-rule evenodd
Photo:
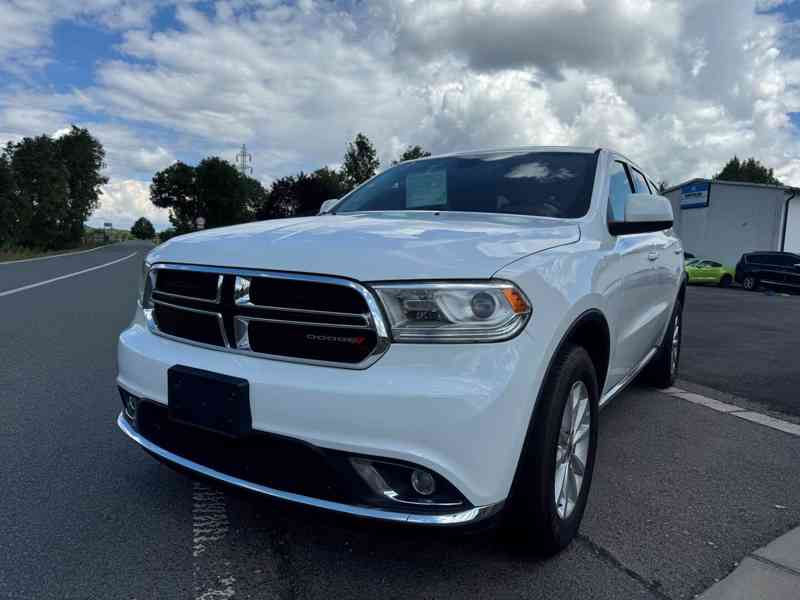
<path fill-rule="evenodd" d="M 315 508 L 322 508 L 325 510 L 332 510 L 335 512 L 345 513 L 357 517 L 365 517 L 369 519 L 380 519 L 383 521 L 394 521 L 402 523 L 413 523 L 418 525 L 467 525 L 469 523 L 476 523 L 486 519 L 497 512 L 503 506 L 502 502 L 496 504 L 488 504 L 486 506 L 475 506 L 466 510 L 460 510 L 452 513 L 437 513 L 437 514 L 420 514 L 420 513 L 404 513 L 399 511 L 387 510 L 382 508 L 370 508 L 367 506 L 354 506 L 350 504 L 342 504 L 341 502 L 333 502 L 331 500 L 321 500 L 319 498 L 311 498 L 300 494 L 293 494 L 291 492 L 284 492 L 264 485 L 259 485 L 251 481 L 245 481 L 238 477 L 232 477 L 221 473 L 214 469 L 210 469 L 201 464 L 178 456 L 160 446 L 152 443 L 150 440 L 139 435 L 139 433 L 131 427 L 130 423 L 125 419 L 122 413 L 117 417 L 117 426 L 134 442 L 139 444 L 145 450 L 153 454 L 175 463 L 176 465 L 194 471 L 204 477 L 216 479 L 233 485 L 236 487 L 244 488 L 258 494 L 263 494 L 272 498 L 280 500 L 287 500 L 289 502 L 296 502 L 298 504 L 305 504 Z"/>

